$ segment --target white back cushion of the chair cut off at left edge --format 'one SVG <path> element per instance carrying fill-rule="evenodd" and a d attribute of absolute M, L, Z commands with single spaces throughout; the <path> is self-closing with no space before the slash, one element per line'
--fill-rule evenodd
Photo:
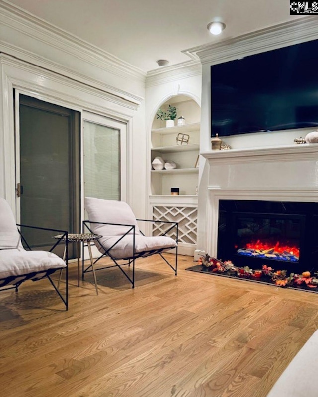
<path fill-rule="evenodd" d="M 10 248 L 22 248 L 21 238 L 11 207 L 0 198 L 0 250 Z"/>

